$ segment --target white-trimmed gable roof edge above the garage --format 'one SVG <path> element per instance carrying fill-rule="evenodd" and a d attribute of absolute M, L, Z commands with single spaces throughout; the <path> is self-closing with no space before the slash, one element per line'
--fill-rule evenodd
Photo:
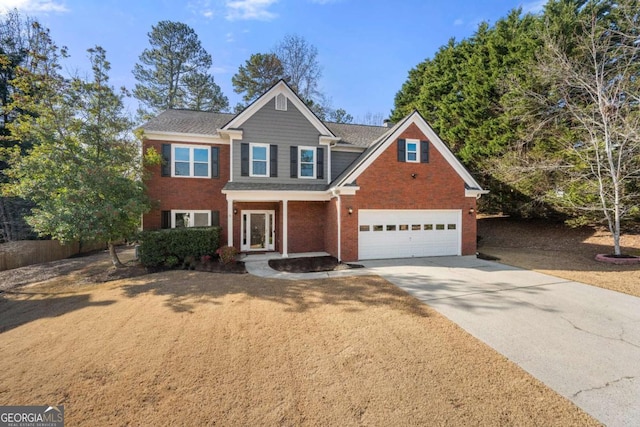
<path fill-rule="evenodd" d="M 378 158 L 378 156 L 380 156 L 381 153 L 383 153 L 395 140 L 397 140 L 412 123 L 418 126 L 420 131 L 431 142 L 431 145 L 438 150 L 442 157 L 444 157 L 458 175 L 460 175 L 468 192 L 475 195 L 486 193 L 473 176 L 471 176 L 471 173 L 469 173 L 467 168 L 460 163 L 449 147 L 447 147 L 442 139 L 440 139 L 417 110 L 414 110 L 413 113 L 406 116 L 395 126 L 389 129 L 388 132 L 385 132 L 376 141 L 374 141 L 353 164 L 351 164 L 331 183 L 331 188 L 355 185 L 355 180 L 371 165 L 371 163 L 373 163 L 375 159 Z"/>

